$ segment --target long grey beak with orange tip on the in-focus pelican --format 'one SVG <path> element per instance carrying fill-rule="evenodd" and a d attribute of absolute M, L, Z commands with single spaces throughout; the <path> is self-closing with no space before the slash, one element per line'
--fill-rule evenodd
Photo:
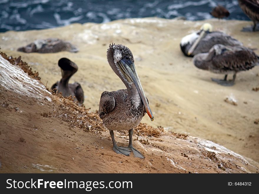
<path fill-rule="evenodd" d="M 124 71 L 124 73 L 127 74 L 129 79 L 131 79 L 131 81 L 135 84 L 137 91 L 140 94 L 141 100 L 144 104 L 144 107 L 146 109 L 147 115 L 150 117 L 151 121 L 153 121 L 154 116 L 148 105 L 147 98 L 145 96 L 142 85 L 140 83 L 139 76 L 137 75 L 135 64 L 131 60 L 126 60 L 126 59 L 120 60 L 118 64 L 121 67 L 121 69 Z"/>

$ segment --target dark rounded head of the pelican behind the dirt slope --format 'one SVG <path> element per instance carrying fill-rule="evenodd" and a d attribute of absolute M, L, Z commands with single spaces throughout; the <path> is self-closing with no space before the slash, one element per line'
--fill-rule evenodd
<path fill-rule="evenodd" d="M 59 59 L 58 65 L 61 69 L 62 78 L 69 78 L 77 72 L 77 64 L 70 61 L 68 58 Z"/>

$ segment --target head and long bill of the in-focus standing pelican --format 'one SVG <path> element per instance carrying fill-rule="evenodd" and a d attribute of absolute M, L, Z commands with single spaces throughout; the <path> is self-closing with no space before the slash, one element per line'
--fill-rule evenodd
<path fill-rule="evenodd" d="M 107 60 L 112 70 L 117 74 L 117 76 L 119 76 L 124 84 L 129 86 L 132 84 L 135 85 L 146 112 L 150 119 L 153 121 L 154 116 L 148 105 L 139 76 L 137 75 L 131 50 L 129 50 L 129 48 L 124 45 L 111 44 L 107 50 Z"/>

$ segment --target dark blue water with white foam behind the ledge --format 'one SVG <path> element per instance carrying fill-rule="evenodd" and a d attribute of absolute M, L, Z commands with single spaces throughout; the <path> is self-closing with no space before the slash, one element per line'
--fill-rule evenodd
<path fill-rule="evenodd" d="M 209 19 L 212 17 L 209 12 L 217 4 L 229 10 L 228 19 L 249 20 L 238 0 L 0 0 L 0 32 L 134 17 Z"/>

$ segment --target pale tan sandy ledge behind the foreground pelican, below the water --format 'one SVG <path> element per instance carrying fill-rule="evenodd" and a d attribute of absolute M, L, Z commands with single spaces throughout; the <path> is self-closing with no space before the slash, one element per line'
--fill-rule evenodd
<path fill-rule="evenodd" d="M 183 56 L 179 48 L 181 38 L 199 29 L 204 22 L 210 22 L 214 30 L 232 35 L 245 46 L 259 48 L 258 32 L 240 32 L 243 26 L 252 22 L 216 19 L 191 22 L 159 18 L 9 31 L 0 34 L 0 46 L 8 55 L 21 55 L 22 60 L 39 71 L 42 83 L 47 83 L 48 87 L 60 78 L 58 59 L 70 58 L 79 66 L 71 81 L 82 84 L 84 104 L 94 111 L 98 109 L 102 91 L 124 88 L 107 63 L 106 49 L 112 42 L 127 45 L 135 57 L 142 86 L 155 116 L 152 123 L 147 116 L 142 122 L 214 141 L 258 162 L 259 125 L 254 120 L 258 119 L 259 101 L 258 92 L 252 88 L 259 85 L 259 68 L 239 73 L 233 87 L 212 83 L 210 77 L 221 75 L 196 69 L 191 58 Z M 49 37 L 71 41 L 78 46 L 79 52 L 28 54 L 15 51 L 37 38 Z M 259 54 L 258 50 L 255 53 Z M 237 100 L 237 106 L 224 102 L 229 96 Z"/>

